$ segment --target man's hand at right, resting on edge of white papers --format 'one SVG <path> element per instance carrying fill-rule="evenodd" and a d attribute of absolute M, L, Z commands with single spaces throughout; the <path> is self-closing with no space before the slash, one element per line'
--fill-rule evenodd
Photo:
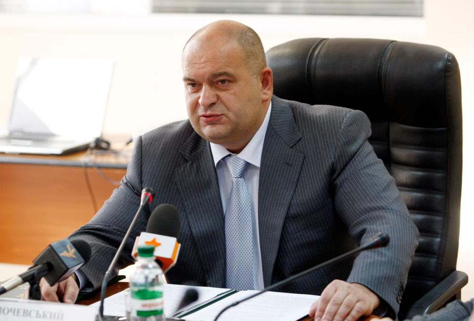
<path fill-rule="evenodd" d="M 313 303 L 309 315 L 315 321 L 356 321 L 370 315 L 379 304 L 377 295 L 365 286 L 334 280 Z"/>

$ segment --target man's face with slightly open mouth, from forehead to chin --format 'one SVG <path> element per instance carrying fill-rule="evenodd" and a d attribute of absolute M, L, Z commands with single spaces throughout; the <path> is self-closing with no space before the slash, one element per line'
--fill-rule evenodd
<path fill-rule="evenodd" d="M 182 59 L 188 116 L 205 140 L 239 152 L 265 118 L 261 76 L 234 41 L 188 43 Z M 268 100 L 268 99 L 267 99 Z"/>

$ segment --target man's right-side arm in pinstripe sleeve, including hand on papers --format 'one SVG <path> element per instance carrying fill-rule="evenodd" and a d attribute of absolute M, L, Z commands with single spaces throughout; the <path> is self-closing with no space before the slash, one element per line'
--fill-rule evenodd
<path fill-rule="evenodd" d="M 396 314 L 418 245 L 418 230 L 369 136 L 365 114 L 349 112 L 335 143 L 331 193 L 339 218 L 358 245 L 380 232 L 389 234 L 391 242 L 387 248 L 360 253 L 349 278 L 324 289 L 310 311 L 315 320 L 357 320 L 380 302 Z"/>

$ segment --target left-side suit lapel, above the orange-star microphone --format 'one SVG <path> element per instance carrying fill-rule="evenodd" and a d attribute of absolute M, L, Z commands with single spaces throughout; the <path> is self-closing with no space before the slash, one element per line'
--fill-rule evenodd
<path fill-rule="evenodd" d="M 187 162 L 175 169 L 178 190 L 208 286 L 224 287 L 224 214 L 209 144 L 193 133 L 180 149 Z"/>

